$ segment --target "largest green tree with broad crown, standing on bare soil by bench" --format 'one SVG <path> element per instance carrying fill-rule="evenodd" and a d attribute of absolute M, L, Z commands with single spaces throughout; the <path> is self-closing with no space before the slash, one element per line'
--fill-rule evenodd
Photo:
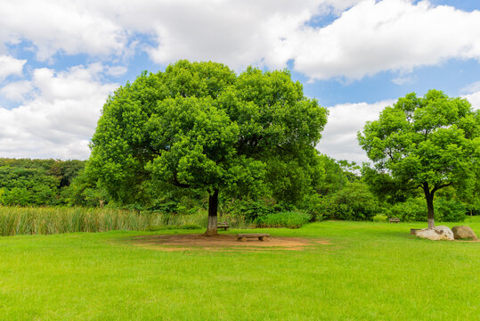
<path fill-rule="evenodd" d="M 180 61 L 110 96 L 86 170 L 120 202 L 147 202 L 152 182 L 206 191 L 216 235 L 218 194 L 262 191 L 269 160 L 312 154 L 326 119 L 289 71 Z"/>

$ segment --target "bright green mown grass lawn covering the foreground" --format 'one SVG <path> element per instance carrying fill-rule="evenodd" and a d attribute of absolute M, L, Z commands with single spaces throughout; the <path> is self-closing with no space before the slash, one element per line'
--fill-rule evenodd
<path fill-rule="evenodd" d="M 0 237 L 0 319 L 477 319 L 480 243 L 410 235 L 426 225 L 261 230 L 330 242 L 305 251 L 157 251 L 122 241 L 145 232 Z M 439 225 L 480 236 L 478 218 Z M 157 234 L 167 233 L 192 232 Z"/>

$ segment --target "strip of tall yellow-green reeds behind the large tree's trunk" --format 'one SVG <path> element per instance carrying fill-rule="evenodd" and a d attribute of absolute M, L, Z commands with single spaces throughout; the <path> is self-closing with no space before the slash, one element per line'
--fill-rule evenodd
<path fill-rule="evenodd" d="M 247 227 L 243 217 L 220 215 L 232 227 Z M 0 206 L 0 235 L 51 235 L 73 232 L 141 231 L 161 228 L 205 228 L 207 210 L 193 214 L 164 214 L 137 210 L 83 207 Z"/>

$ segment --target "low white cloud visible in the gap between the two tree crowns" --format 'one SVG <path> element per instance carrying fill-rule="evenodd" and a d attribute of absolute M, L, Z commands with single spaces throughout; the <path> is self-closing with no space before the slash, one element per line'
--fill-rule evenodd
<path fill-rule="evenodd" d="M 357 132 L 367 121 L 378 119 L 380 111 L 395 101 L 344 103 L 329 108 L 329 121 L 321 133 L 317 149 L 337 160 L 369 161 L 357 141 Z"/>

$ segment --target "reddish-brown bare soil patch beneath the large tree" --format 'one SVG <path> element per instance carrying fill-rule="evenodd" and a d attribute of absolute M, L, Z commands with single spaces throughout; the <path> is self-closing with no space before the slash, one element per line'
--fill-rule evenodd
<path fill-rule="evenodd" d="M 135 246 L 160 251 L 213 250 L 213 251 L 302 251 L 318 244 L 329 244 L 326 239 L 299 237 L 271 237 L 268 241 L 248 239 L 237 241 L 236 235 L 145 235 L 129 239 Z"/>

